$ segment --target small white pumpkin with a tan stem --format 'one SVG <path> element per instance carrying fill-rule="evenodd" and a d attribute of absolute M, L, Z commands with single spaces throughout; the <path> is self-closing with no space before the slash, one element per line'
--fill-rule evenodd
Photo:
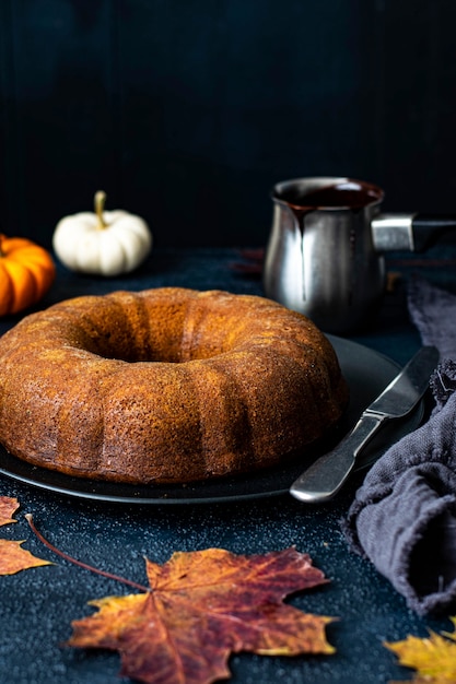
<path fill-rule="evenodd" d="M 95 212 L 65 216 L 56 226 L 52 246 L 72 271 L 118 275 L 135 270 L 152 248 L 152 234 L 140 216 L 104 211 L 106 193 L 95 194 Z"/>

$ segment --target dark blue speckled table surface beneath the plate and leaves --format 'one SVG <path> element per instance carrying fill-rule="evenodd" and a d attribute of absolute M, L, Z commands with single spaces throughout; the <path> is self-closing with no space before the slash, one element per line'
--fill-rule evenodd
<path fill-rule="evenodd" d="M 237 249 L 155 250 L 140 271 L 104 280 L 58 269 L 40 307 L 81 295 L 114 290 L 179 285 L 262 294 L 256 274 L 233 268 L 248 263 Z M 409 321 L 406 285 L 414 273 L 456 291 L 456 247 L 435 247 L 424 257 L 391 255 L 389 271 L 399 280 L 387 294 L 374 326 L 352 339 L 405 364 L 420 346 Z M 0 333 L 19 317 L 0 321 Z M 334 502 L 308 507 L 289 495 L 260 499 L 173 505 L 92 502 L 60 495 L 0 476 L 0 495 L 21 503 L 17 522 L 0 536 L 26 540 L 32 553 L 56 565 L 0 577 L 0 681 L 15 684 L 106 684 L 118 679 L 119 658 L 107 651 L 62 647 L 71 621 L 90 615 L 87 602 L 131 589 L 75 567 L 52 555 L 31 533 L 32 512 L 42 532 L 62 551 L 103 570 L 145 582 L 143 557 L 166 562 L 175 551 L 212 546 L 234 553 L 266 553 L 295 545 L 308 553 L 330 583 L 290 601 L 305 612 L 337 616 L 327 629 L 336 653 L 325 657 L 268 658 L 249 653 L 230 660 L 232 681 L 264 684 L 283 681 L 312 684 L 373 684 L 404 680 L 410 671 L 397 664 L 384 641 L 448 629 L 446 618 L 419 617 L 369 561 L 348 550 L 339 521 L 353 498 L 361 474 Z M 456 610 L 456 609 L 455 609 Z"/>

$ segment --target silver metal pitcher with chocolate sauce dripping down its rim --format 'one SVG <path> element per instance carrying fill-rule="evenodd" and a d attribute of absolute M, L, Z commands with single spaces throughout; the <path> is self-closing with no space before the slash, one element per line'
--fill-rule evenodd
<path fill-rule="evenodd" d="M 381 213 L 383 190 L 352 178 L 284 180 L 272 189 L 266 296 L 343 334 L 365 326 L 385 290 L 386 251 L 423 251 L 456 216 Z"/>

